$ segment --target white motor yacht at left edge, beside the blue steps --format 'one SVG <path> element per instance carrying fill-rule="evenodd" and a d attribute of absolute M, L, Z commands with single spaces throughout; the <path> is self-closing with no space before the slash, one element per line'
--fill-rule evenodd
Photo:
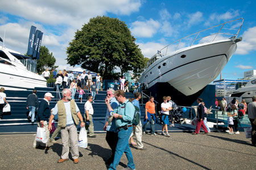
<path fill-rule="evenodd" d="M 46 79 L 32 73 L 14 56 L 11 49 L 0 47 L 0 87 L 7 90 L 46 88 Z M 20 54 L 18 54 L 20 55 Z"/>

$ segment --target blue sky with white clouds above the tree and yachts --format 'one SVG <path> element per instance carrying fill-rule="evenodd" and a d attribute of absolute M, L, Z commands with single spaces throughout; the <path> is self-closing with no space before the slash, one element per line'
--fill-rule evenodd
<path fill-rule="evenodd" d="M 243 78 L 256 69 L 255 1 L 146 1 L 89 0 L 1 2 L 0 36 L 5 46 L 26 53 L 31 25 L 44 32 L 42 45 L 53 53 L 59 69 L 72 69 L 65 53 L 76 30 L 97 15 L 119 18 L 127 24 L 146 57 L 184 36 L 205 28 L 245 18 L 243 41 L 222 71 L 222 78 Z M 2 43 L 0 44 L 2 45 Z M 218 77 L 219 78 L 219 77 Z"/>

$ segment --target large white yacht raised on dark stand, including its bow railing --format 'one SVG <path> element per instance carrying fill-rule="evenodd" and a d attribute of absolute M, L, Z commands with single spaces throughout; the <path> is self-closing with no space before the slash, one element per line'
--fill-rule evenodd
<path fill-rule="evenodd" d="M 232 20 L 167 45 L 151 57 L 139 82 L 147 88 L 168 82 L 185 96 L 199 92 L 220 74 L 236 51 L 242 24 L 243 18 Z"/>

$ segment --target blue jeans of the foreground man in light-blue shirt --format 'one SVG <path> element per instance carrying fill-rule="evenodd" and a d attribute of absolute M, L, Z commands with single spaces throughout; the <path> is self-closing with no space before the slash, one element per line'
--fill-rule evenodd
<path fill-rule="evenodd" d="M 110 164 L 109 169 L 116 169 L 117 165 L 119 164 L 119 161 L 123 155 L 123 152 L 125 152 L 125 155 L 128 160 L 127 166 L 131 169 L 135 169 L 135 164 L 133 161 L 133 155 L 131 154 L 130 146 L 129 146 L 129 138 L 131 135 L 131 131 L 133 131 L 133 127 L 128 127 L 127 130 L 124 128 L 121 128 L 121 130 L 118 131 L 118 142 L 117 147 L 115 148 L 115 157 L 112 164 Z"/>

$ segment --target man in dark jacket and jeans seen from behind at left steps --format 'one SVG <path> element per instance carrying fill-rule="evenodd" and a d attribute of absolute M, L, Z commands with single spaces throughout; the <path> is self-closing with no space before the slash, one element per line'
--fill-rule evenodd
<path fill-rule="evenodd" d="M 33 90 L 33 93 L 27 97 L 27 109 L 30 110 L 28 114 L 28 119 L 31 118 L 31 123 L 34 124 L 35 121 L 35 110 L 38 107 L 38 96 L 36 96 L 36 90 Z"/>

